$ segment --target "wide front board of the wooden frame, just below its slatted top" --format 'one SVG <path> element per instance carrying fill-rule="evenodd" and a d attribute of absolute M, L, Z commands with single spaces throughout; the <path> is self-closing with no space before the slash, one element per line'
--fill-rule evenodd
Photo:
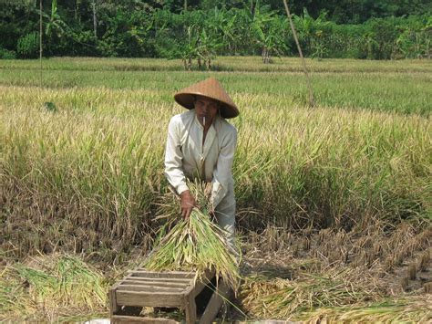
<path fill-rule="evenodd" d="M 149 306 L 149 307 L 183 307 L 183 296 L 170 293 L 140 293 L 138 291 L 117 290 L 116 299 L 118 305 L 125 306 Z"/>

